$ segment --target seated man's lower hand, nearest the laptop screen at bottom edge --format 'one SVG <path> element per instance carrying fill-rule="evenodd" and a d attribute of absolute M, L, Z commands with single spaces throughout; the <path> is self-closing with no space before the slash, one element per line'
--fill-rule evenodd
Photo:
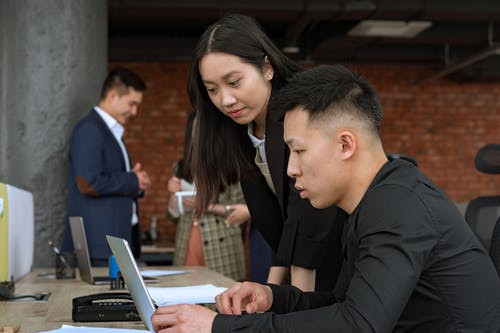
<path fill-rule="evenodd" d="M 216 313 L 201 305 L 160 306 L 151 317 L 155 332 L 210 333 Z"/>

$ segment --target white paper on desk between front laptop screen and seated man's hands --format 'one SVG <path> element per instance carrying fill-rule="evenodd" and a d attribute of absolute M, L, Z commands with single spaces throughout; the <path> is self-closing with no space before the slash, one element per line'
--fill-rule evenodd
<path fill-rule="evenodd" d="M 215 303 L 215 296 L 226 288 L 213 284 L 187 287 L 149 287 L 149 295 L 158 306 L 175 304 L 210 304 Z"/>

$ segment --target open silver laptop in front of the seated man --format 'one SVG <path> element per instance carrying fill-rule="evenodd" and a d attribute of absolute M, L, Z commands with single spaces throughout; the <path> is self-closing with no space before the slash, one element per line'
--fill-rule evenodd
<path fill-rule="evenodd" d="M 111 252 L 116 258 L 120 273 L 127 284 L 127 288 L 134 300 L 137 312 L 146 325 L 146 328 L 153 332 L 153 324 L 151 323 L 151 316 L 155 311 L 155 305 L 149 296 L 146 284 L 139 273 L 139 268 L 135 263 L 134 256 L 125 239 L 113 236 L 106 236 Z"/>

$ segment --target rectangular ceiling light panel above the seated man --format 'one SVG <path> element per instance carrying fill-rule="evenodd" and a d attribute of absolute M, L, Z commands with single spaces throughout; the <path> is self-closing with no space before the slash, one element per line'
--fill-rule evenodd
<path fill-rule="evenodd" d="M 432 25 L 430 21 L 365 20 L 356 24 L 349 36 L 413 38 Z"/>

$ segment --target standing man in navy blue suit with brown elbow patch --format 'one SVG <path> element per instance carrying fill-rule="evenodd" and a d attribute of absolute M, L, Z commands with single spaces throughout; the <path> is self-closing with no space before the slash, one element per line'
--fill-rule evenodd
<path fill-rule="evenodd" d="M 103 83 L 99 105 L 73 129 L 68 216 L 83 217 L 94 266 L 105 266 L 111 255 L 105 235 L 127 239 L 134 256 L 140 256 L 137 198 L 151 181 L 140 163 L 131 167 L 122 135 L 145 90 L 133 71 L 113 69 Z M 65 226 L 62 248 L 71 251 L 68 221 Z"/>

